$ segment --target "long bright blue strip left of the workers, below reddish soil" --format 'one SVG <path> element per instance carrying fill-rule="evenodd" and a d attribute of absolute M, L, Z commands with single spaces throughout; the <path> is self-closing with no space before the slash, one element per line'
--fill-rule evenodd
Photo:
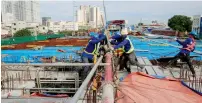
<path fill-rule="evenodd" d="M 66 51 L 59 52 L 58 49 Z M 2 54 L 8 56 L 2 58 L 2 62 L 6 63 L 41 63 L 41 58 L 50 58 L 55 56 L 58 61 L 68 61 L 70 56 L 73 61 L 81 61 L 81 57 L 76 54 L 81 47 L 44 47 L 42 50 L 2 50 Z"/>

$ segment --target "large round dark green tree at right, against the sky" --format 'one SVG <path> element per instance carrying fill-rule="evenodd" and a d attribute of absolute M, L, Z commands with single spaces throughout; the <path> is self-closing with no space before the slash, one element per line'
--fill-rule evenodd
<path fill-rule="evenodd" d="M 184 15 L 174 15 L 168 20 L 168 26 L 180 32 L 191 31 L 192 21 L 190 17 Z"/>

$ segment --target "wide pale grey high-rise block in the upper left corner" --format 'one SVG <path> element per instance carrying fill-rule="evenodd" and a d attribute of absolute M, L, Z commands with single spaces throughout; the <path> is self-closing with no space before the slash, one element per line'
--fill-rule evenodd
<path fill-rule="evenodd" d="M 39 1 L 2 1 L 2 22 L 41 22 Z M 12 15 L 12 16 L 11 16 Z M 12 17 L 8 20 L 8 16 Z"/>

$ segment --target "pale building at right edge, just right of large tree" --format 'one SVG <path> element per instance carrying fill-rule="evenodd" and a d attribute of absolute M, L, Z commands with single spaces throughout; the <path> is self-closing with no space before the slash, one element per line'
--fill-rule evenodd
<path fill-rule="evenodd" d="M 193 16 L 192 30 L 196 31 L 202 37 L 202 15 Z"/>

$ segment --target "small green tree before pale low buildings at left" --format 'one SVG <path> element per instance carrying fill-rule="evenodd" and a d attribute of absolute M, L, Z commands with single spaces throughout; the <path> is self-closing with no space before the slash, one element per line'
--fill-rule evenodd
<path fill-rule="evenodd" d="M 18 30 L 16 33 L 14 33 L 14 37 L 21 37 L 21 36 L 31 36 L 31 31 L 28 29 L 22 29 Z"/>

